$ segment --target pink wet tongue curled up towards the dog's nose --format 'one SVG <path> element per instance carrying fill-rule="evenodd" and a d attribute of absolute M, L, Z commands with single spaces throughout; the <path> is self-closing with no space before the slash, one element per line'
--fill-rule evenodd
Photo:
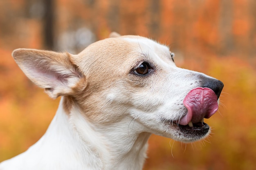
<path fill-rule="evenodd" d="M 190 121 L 200 122 L 203 118 L 210 118 L 218 110 L 216 94 L 210 88 L 193 88 L 183 100 L 188 113 L 179 121 L 181 125 L 187 125 Z"/>

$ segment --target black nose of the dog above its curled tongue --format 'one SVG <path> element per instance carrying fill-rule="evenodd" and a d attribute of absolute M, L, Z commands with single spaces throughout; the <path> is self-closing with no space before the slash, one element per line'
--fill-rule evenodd
<path fill-rule="evenodd" d="M 211 88 L 211 90 L 213 90 L 216 96 L 219 98 L 224 84 L 218 79 L 205 78 L 203 80 L 202 87 Z"/>

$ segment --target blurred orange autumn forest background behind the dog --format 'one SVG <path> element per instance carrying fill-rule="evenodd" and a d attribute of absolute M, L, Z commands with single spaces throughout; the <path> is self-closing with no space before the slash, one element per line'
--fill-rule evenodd
<path fill-rule="evenodd" d="M 45 133 L 58 107 L 20 71 L 16 48 L 79 53 L 111 31 L 170 46 L 176 65 L 224 82 L 207 139 L 152 135 L 144 170 L 256 169 L 255 0 L 0 0 L 0 161 Z"/>

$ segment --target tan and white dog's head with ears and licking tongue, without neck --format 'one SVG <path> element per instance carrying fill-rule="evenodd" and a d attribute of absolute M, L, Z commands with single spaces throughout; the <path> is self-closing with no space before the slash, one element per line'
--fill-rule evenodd
<path fill-rule="evenodd" d="M 167 46 L 140 36 L 112 34 L 77 55 L 17 49 L 13 57 L 50 97 L 64 96 L 67 114 L 77 106 L 92 124 L 125 119 L 135 133 L 184 142 L 207 136 L 203 120 L 217 111 L 223 88 L 217 79 L 178 68 Z"/>

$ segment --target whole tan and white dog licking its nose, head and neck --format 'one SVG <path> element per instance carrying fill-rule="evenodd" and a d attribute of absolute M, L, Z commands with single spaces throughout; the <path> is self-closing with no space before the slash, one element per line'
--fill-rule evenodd
<path fill-rule="evenodd" d="M 151 134 L 193 142 L 210 132 L 223 83 L 175 66 L 169 48 L 111 33 L 81 53 L 16 49 L 14 60 L 61 97 L 45 135 L 0 170 L 141 170 Z"/>

